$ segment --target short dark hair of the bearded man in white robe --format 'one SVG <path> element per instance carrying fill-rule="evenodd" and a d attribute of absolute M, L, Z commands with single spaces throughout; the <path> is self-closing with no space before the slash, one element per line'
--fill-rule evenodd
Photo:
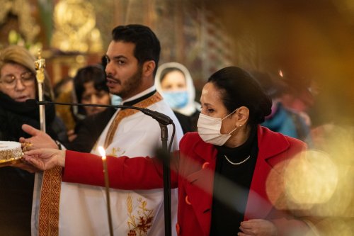
<path fill-rule="evenodd" d="M 161 47 L 159 39 L 149 27 L 142 25 L 118 26 L 112 30 L 112 40 L 134 43 L 134 56 L 137 58 L 139 65 L 153 60 L 156 64 L 154 69 L 154 74 L 156 74 Z"/>

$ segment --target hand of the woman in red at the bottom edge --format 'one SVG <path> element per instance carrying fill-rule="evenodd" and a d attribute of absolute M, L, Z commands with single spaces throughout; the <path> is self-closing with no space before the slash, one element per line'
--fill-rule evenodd
<path fill-rule="evenodd" d="M 242 221 L 239 236 L 276 236 L 278 235 L 277 227 L 269 220 L 253 219 Z"/>

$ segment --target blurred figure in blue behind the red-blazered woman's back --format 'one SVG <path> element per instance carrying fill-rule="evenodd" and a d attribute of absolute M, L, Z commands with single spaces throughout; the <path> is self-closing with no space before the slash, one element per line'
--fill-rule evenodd
<path fill-rule="evenodd" d="M 273 101 L 272 113 L 265 117 L 265 122 L 262 125 L 311 145 L 309 116 L 304 113 L 304 110 L 298 111 L 295 108 L 285 106 L 282 102 L 282 97 L 287 96 L 290 91 L 282 77 L 271 77 L 270 74 L 264 72 L 253 72 L 252 74 Z M 294 97 L 294 94 L 292 94 L 292 97 Z"/>

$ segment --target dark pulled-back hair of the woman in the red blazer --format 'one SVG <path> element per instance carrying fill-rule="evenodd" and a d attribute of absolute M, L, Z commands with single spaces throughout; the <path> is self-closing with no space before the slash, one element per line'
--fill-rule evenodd
<path fill-rule="evenodd" d="M 240 106 L 249 108 L 249 123 L 263 123 L 271 112 L 272 101 L 249 72 L 239 67 L 225 67 L 207 80 L 222 94 L 222 101 L 229 113 Z"/>

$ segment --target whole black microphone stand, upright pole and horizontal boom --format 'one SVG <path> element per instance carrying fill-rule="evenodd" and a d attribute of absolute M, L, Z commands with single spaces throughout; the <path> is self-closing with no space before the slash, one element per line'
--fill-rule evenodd
<path fill-rule="evenodd" d="M 52 101 L 36 101 L 35 99 L 28 99 L 26 101 L 30 106 L 37 105 L 64 105 L 64 106 L 99 106 L 99 107 L 113 107 L 113 108 L 127 108 L 142 111 L 147 116 L 150 116 L 159 122 L 161 128 L 161 141 L 162 141 L 162 163 L 163 163 L 163 179 L 164 179 L 164 218 L 165 218 L 165 236 L 171 236 L 171 169 L 170 169 L 170 155 L 169 148 L 167 147 L 167 141 L 169 140 L 169 130 L 167 125 L 173 125 L 173 120 L 163 113 L 152 111 L 147 108 L 139 108 L 137 106 L 125 106 L 125 105 L 100 105 L 100 104 L 84 104 L 84 103 L 59 103 Z M 173 133 L 174 134 L 174 133 Z M 171 140 L 173 142 L 173 140 Z M 171 147 L 170 142 L 170 147 Z"/>

